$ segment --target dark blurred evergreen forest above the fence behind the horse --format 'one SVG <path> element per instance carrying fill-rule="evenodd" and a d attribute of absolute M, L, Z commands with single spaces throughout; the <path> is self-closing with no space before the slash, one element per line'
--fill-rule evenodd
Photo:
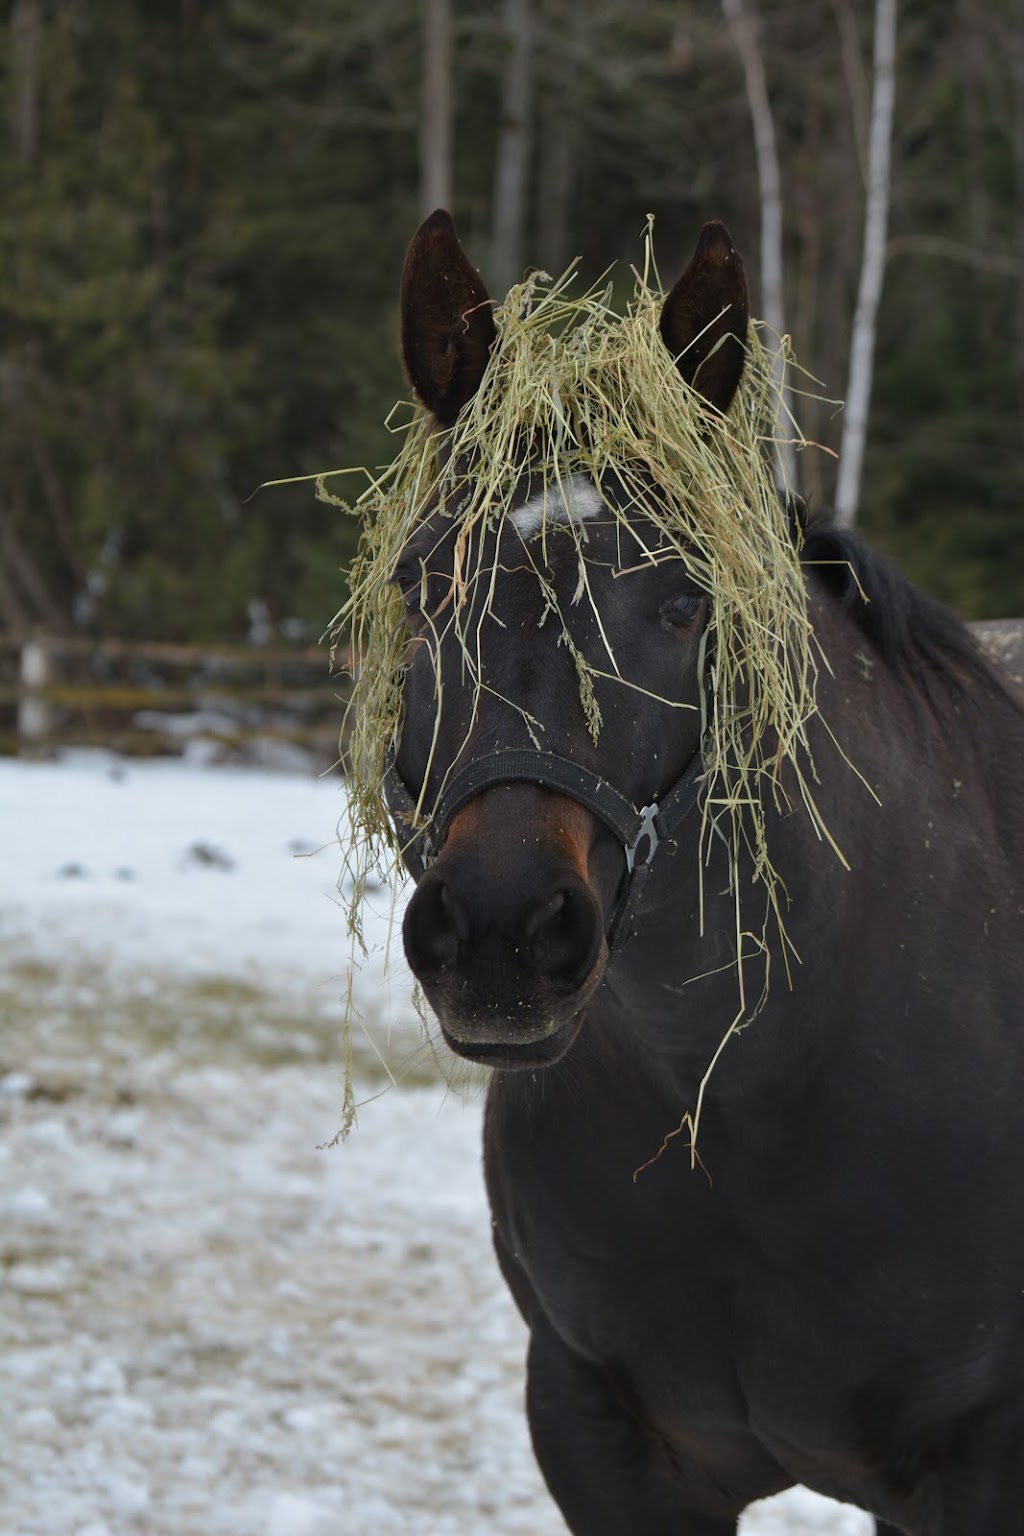
<path fill-rule="evenodd" d="M 844 392 L 867 0 L 748 0 L 785 324 Z M 760 313 L 748 80 L 718 0 L 14 0 L 0 120 L 0 628 L 315 639 L 393 456 L 405 244 L 453 207 L 491 292 L 626 298 L 725 218 Z M 1024 0 L 904 0 L 858 524 L 967 617 L 1024 613 Z M 841 415 L 801 401 L 837 450 Z M 800 455 L 829 505 L 835 461 Z M 356 495 L 358 481 L 335 481 Z"/>

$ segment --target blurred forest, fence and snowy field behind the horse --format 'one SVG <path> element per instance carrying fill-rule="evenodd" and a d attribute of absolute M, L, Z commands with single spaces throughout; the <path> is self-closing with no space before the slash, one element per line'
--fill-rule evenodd
<path fill-rule="evenodd" d="M 725 218 L 846 396 L 892 3 L 0 8 L 5 1531 L 563 1531 L 479 1104 L 442 1115 L 385 971 L 401 892 L 362 969 L 345 935 L 318 642 L 356 524 L 258 487 L 393 456 L 438 204 L 499 296 L 579 257 L 625 301 L 648 214 L 666 283 Z M 1024 0 L 904 0 L 886 140 L 857 521 L 966 617 L 1024 614 Z M 798 416 L 838 453 L 835 407 Z M 829 505 L 835 458 L 797 478 Z M 806 1491 L 743 1525 L 869 1528 Z"/>

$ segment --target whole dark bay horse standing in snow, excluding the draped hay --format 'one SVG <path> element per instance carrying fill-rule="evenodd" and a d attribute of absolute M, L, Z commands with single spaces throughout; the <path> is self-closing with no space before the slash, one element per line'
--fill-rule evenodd
<path fill-rule="evenodd" d="M 660 321 L 709 419 L 729 410 L 746 329 L 742 263 L 709 224 Z M 419 399 L 450 429 L 496 332 L 444 214 L 411 243 L 402 333 Z M 496 1069 L 487 1183 L 530 1329 L 537 1459 L 576 1536 L 726 1536 L 794 1482 L 886 1533 L 1010 1536 L 1024 1530 L 1021 699 L 858 539 L 804 530 L 827 659 L 808 750 L 849 868 L 798 796 L 766 793 L 786 937 L 765 931 L 771 986 L 720 1051 L 754 849 L 732 868 L 723 839 L 699 846 L 714 613 L 683 559 L 623 570 L 622 518 L 643 508 L 606 516 L 616 495 L 565 490 L 548 521 L 585 524 L 585 539 L 563 558 L 525 462 L 517 507 L 479 531 L 502 542 L 473 694 L 457 625 L 433 619 L 462 558 L 441 511 L 395 571 L 416 637 L 390 770 L 418 876 L 404 942 L 448 1044 Z M 594 662 L 597 733 L 542 602 Z M 428 837 L 413 828 L 421 791 L 441 800 Z M 717 1052 L 691 1155 L 688 1112 Z"/>

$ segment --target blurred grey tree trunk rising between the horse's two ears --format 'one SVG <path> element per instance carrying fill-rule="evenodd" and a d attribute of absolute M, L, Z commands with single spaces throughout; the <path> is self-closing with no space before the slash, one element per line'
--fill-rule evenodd
<path fill-rule="evenodd" d="M 508 58 L 502 77 L 502 117 L 494 161 L 491 281 L 494 292 L 522 278 L 527 249 L 527 181 L 533 109 L 531 0 L 502 0 Z"/>

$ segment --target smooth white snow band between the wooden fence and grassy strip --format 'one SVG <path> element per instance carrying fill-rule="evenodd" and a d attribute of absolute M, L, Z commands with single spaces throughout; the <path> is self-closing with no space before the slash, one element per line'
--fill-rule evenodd
<path fill-rule="evenodd" d="M 298 977 L 338 997 L 345 816 L 336 777 L 126 765 L 104 753 L 0 759 L 0 938 L 55 958 L 71 948 L 121 972 Z M 379 908 L 370 943 L 382 946 L 390 902 Z"/>

